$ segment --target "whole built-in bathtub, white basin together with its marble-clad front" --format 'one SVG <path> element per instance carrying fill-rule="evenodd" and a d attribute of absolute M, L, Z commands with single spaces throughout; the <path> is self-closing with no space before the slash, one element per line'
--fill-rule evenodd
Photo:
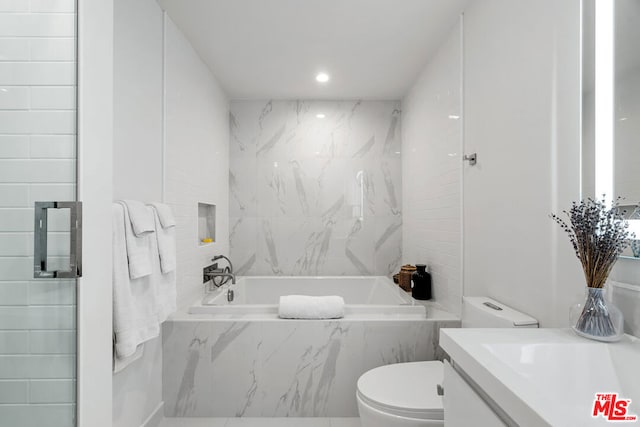
<path fill-rule="evenodd" d="M 340 295 L 345 317 L 280 319 L 287 294 Z M 163 324 L 164 414 L 355 417 L 361 374 L 441 359 L 439 329 L 459 326 L 384 277 L 243 277 Z"/>

